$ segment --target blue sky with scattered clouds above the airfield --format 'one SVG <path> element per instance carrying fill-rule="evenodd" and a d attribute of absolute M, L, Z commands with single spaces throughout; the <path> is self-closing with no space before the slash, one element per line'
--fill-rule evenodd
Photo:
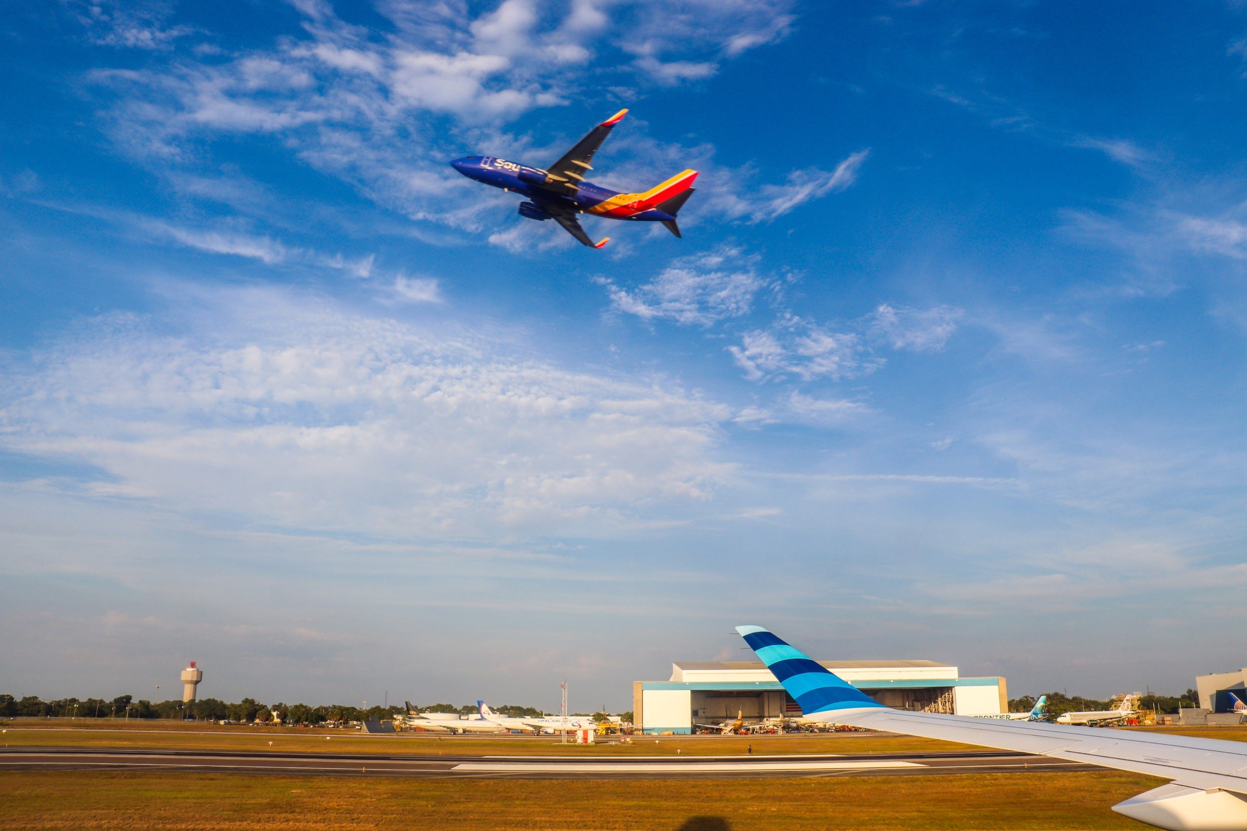
<path fill-rule="evenodd" d="M 0 36 L 5 691 L 622 709 L 741 623 L 1014 695 L 1245 663 L 1236 4 Z M 445 163 L 620 107 L 596 181 L 701 171 L 683 240 Z"/>

